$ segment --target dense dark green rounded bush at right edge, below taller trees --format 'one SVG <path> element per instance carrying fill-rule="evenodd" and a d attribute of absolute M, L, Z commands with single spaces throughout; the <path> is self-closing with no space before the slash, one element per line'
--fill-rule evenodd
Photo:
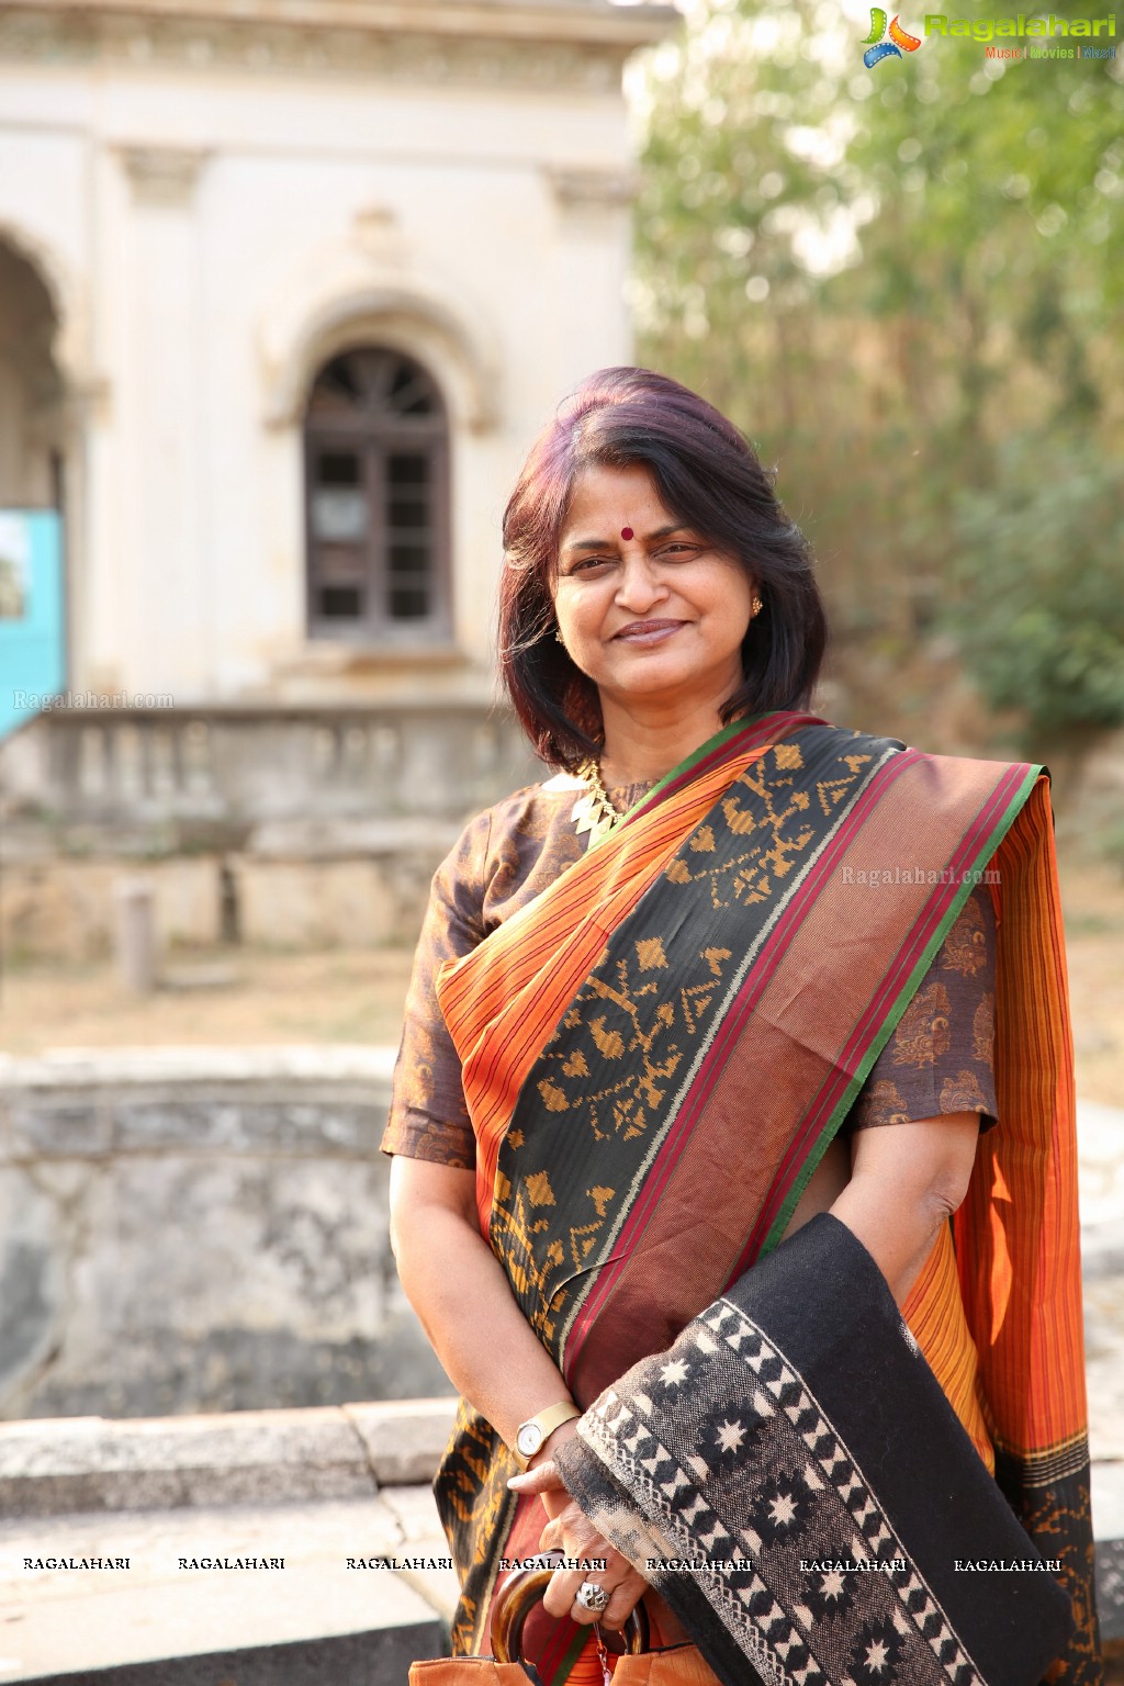
<path fill-rule="evenodd" d="M 1077 440 L 1020 440 L 957 499 L 944 620 L 982 696 L 1028 744 L 1124 725 L 1124 467 Z"/>

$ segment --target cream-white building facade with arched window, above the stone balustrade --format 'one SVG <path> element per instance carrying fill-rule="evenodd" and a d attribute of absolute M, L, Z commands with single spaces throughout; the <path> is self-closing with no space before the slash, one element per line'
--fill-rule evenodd
<path fill-rule="evenodd" d="M 667 7 L 15 0 L 0 506 L 69 685 L 482 700 L 502 501 L 629 356 L 620 72 Z"/>

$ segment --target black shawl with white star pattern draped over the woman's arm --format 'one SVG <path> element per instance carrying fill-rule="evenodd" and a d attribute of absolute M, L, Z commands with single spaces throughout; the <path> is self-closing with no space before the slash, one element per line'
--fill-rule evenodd
<path fill-rule="evenodd" d="M 829 1214 L 607 1389 L 558 1463 L 726 1686 L 1033 1686 L 1072 1629 Z"/>

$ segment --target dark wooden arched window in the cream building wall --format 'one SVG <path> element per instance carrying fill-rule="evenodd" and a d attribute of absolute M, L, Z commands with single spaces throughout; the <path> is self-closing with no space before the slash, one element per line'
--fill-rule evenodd
<path fill-rule="evenodd" d="M 448 422 L 413 357 L 361 347 L 320 369 L 305 502 L 312 637 L 448 636 Z"/>

